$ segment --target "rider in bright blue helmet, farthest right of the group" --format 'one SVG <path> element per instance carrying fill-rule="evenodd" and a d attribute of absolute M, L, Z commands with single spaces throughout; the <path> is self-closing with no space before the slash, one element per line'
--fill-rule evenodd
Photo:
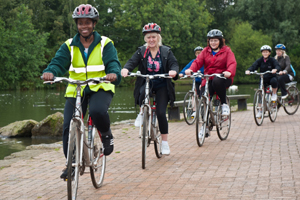
<path fill-rule="evenodd" d="M 276 56 L 274 57 L 281 68 L 278 76 L 279 88 L 281 90 L 281 98 L 285 99 L 288 93 L 285 88 L 285 84 L 294 80 L 294 72 L 291 68 L 290 57 L 286 54 L 286 47 L 283 44 L 277 44 L 275 46 Z"/>

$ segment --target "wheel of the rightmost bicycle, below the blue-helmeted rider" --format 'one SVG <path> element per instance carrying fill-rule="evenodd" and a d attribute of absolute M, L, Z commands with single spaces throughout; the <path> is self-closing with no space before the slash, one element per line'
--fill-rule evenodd
<path fill-rule="evenodd" d="M 289 96 L 284 100 L 284 111 L 288 115 L 293 115 L 299 108 L 299 90 L 296 86 L 290 86 L 288 89 Z"/>

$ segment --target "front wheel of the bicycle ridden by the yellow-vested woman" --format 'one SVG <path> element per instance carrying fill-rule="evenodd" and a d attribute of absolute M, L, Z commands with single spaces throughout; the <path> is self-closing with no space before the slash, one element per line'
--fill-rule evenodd
<path fill-rule="evenodd" d="M 76 199 L 77 190 L 78 190 L 79 171 L 80 171 L 79 169 L 80 143 L 78 140 L 79 133 L 80 133 L 79 127 L 80 125 L 74 121 L 70 123 L 69 151 L 68 151 L 68 165 L 67 165 L 68 168 L 67 190 L 68 190 L 69 200 Z"/>

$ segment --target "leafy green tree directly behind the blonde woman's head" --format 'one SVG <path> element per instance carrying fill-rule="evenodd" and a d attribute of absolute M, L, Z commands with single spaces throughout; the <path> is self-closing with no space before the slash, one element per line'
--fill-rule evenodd
<path fill-rule="evenodd" d="M 124 0 L 121 10 L 115 28 L 122 30 L 116 41 L 122 59 L 128 60 L 145 43 L 142 28 L 149 22 L 161 26 L 163 44 L 172 47 L 181 68 L 194 58 L 196 46 L 206 46 L 212 16 L 205 9 L 205 2 L 154 0 L 145 4 L 142 0 Z"/>

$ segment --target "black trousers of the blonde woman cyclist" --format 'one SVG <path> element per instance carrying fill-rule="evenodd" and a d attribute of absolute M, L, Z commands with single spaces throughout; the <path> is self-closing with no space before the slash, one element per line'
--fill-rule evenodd
<path fill-rule="evenodd" d="M 150 88 L 151 89 L 151 88 Z M 166 110 L 169 102 L 168 89 L 167 86 L 160 87 L 157 89 L 152 89 L 152 91 L 156 94 L 156 116 L 158 120 L 158 126 L 161 134 L 168 133 L 168 120 L 166 116 Z M 150 91 L 151 94 L 151 91 Z M 140 98 L 139 105 L 143 104 L 145 99 L 145 85 L 140 89 Z"/>

